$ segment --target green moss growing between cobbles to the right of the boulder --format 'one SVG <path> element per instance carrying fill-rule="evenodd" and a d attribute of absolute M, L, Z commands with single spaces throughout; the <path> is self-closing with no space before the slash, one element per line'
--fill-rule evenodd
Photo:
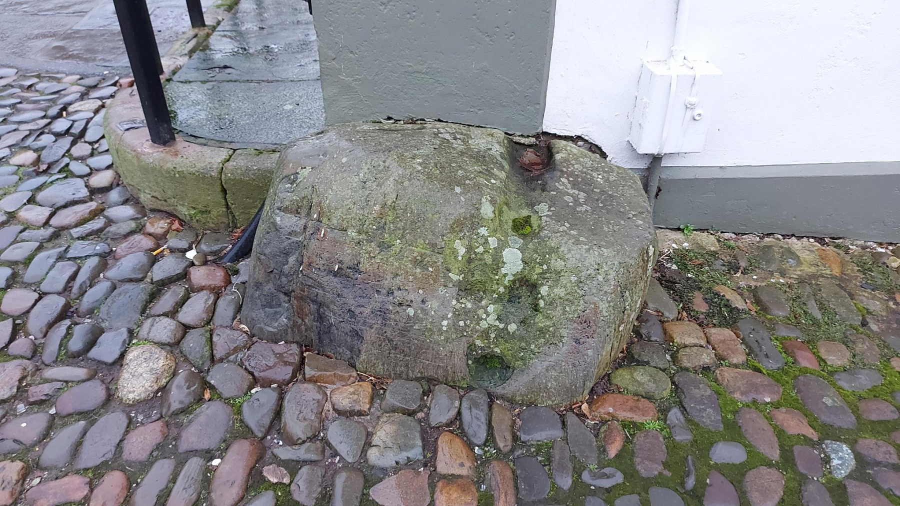
<path fill-rule="evenodd" d="M 679 262 L 684 261 L 682 265 L 688 267 L 689 273 L 692 274 L 692 276 L 688 277 L 689 281 L 685 284 L 686 286 L 682 286 L 680 288 L 680 292 L 675 292 L 676 294 L 681 294 L 681 297 L 679 298 L 682 303 L 687 300 L 687 297 L 693 297 L 694 290 L 702 289 L 704 288 L 704 285 L 708 287 L 710 283 L 718 283 L 721 280 L 721 277 L 717 276 L 716 274 L 707 276 L 705 274 L 707 272 L 705 269 L 698 268 L 698 266 L 701 265 L 699 262 L 689 263 L 692 261 L 696 261 L 701 257 L 707 257 L 705 260 L 703 260 L 704 263 L 707 263 L 711 260 L 709 258 L 709 255 L 703 253 L 682 253 L 682 256 L 680 257 Z M 680 270 L 682 268 L 682 265 L 679 265 Z M 763 321 L 769 322 L 770 324 L 774 324 L 775 322 L 782 322 L 786 324 L 796 325 L 804 334 L 804 341 L 811 348 L 815 349 L 816 341 L 828 339 L 833 341 L 845 342 L 845 344 L 850 346 L 852 349 L 852 343 L 848 342 L 845 337 L 846 332 L 856 332 L 868 335 L 869 337 L 874 337 L 866 329 L 843 324 L 842 321 L 834 313 L 833 309 L 830 306 L 824 304 L 824 301 L 822 300 L 818 300 L 817 302 L 820 311 L 823 314 L 823 318 L 821 320 L 815 319 L 806 310 L 805 299 L 794 285 L 779 284 L 779 289 L 783 289 L 788 296 L 789 305 L 791 307 L 791 314 L 787 317 L 782 318 L 771 317 L 763 314 L 758 314 L 757 317 Z M 722 320 L 720 319 L 719 322 L 721 321 Z M 709 323 L 708 319 L 707 323 Z M 788 340 L 794 338 L 786 337 L 781 339 Z M 780 339 L 778 337 L 773 337 L 773 342 L 779 348 L 779 351 L 782 353 L 782 355 L 785 355 L 783 349 L 780 347 Z M 879 347 L 881 347 L 884 351 L 887 351 L 886 343 L 878 339 L 873 339 L 873 342 L 877 342 Z M 885 354 L 884 356 L 893 355 L 894 353 L 891 352 L 889 354 Z M 744 475 L 746 475 L 747 471 L 751 470 L 754 467 L 770 466 L 778 469 L 779 472 L 782 473 L 782 475 L 785 475 L 786 478 L 784 495 L 779 504 L 800 506 L 802 504 L 802 486 L 808 478 L 806 477 L 806 475 L 801 475 L 797 470 L 797 464 L 796 462 L 794 462 L 794 446 L 810 446 L 818 448 L 821 451 L 821 441 L 838 440 L 853 448 L 858 439 L 872 438 L 890 440 L 890 432 L 900 430 L 900 421 L 867 421 L 860 416 L 858 408 L 858 403 L 862 399 L 881 398 L 890 402 L 893 392 L 900 391 L 900 373 L 892 368 L 887 363 L 887 360 L 882 360 L 878 363 L 877 366 L 864 365 L 861 363 L 853 364 L 856 367 L 876 368 L 878 372 L 884 377 L 884 381 L 880 386 L 874 386 L 863 392 L 853 392 L 845 390 L 841 386 L 838 386 L 834 382 L 833 377 L 829 374 L 830 369 L 844 370 L 846 368 L 825 368 L 825 370 L 800 368 L 794 363 L 793 360 L 790 360 L 789 357 L 785 356 L 785 359 L 785 367 L 778 370 L 768 370 L 762 368 L 761 364 L 757 360 L 753 360 L 752 358 L 749 358 L 746 364 L 731 366 L 754 370 L 767 377 L 770 377 L 776 383 L 778 383 L 782 387 L 782 395 L 778 401 L 772 403 L 739 402 L 730 395 L 727 395 L 725 389 L 716 382 L 715 375 L 712 372 L 702 372 L 701 376 L 707 378 L 710 387 L 718 397 L 725 429 L 724 431 L 709 431 L 699 426 L 693 420 L 689 419 L 689 427 L 694 434 L 694 439 L 688 444 L 679 443 L 669 438 L 666 439 L 666 448 L 668 455 L 663 465 L 667 470 L 671 472 L 671 476 L 658 475 L 653 478 L 653 485 L 665 486 L 671 488 L 672 490 L 681 491 L 683 488 L 683 480 L 685 475 L 685 460 L 688 455 L 692 455 L 697 473 L 697 485 L 695 486 L 693 491 L 681 493 L 682 497 L 684 497 L 685 499 L 686 504 L 700 505 L 703 503 L 703 494 L 706 491 L 707 475 L 709 474 L 711 469 L 716 469 L 722 475 L 725 475 L 725 477 L 732 484 L 734 484 L 734 488 L 738 492 L 742 503 L 747 503 L 748 500 L 746 494 L 743 491 Z M 815 415 L 806 408 L 806 405 L 800 401 L 799 397 L 797 396 L 797 392 L 794 389 L 794 379 L 796 377 L 804 375 L 821 377 L 829 385 L 833 386 L 838 394 L 841 395 L 844 401 L 849 405 L 854 416 L 856 416 L 857 427 L 855 429 L 839 429 L 819 422 Z M 661 416 L 664 416 L 664 413 L 666 413 L 666 411 L 668 410 L 668 405 L 666 407 L 663 407 L 660 404 L 667 403 L 658 403 L 657 406 L 659 408 Z M 780 458 L 778 461 L 772 462 L 768 457 L 761 455 L 761 453 L 753 448 L 752 444 L 743 437 L 743 432 L 740 430 L 740 427 L 734 420 L 736 413 L 742 407 L 749 407 L 759 411 L 760 413 L 763 413 L 763 415 L 767 418 L 767 421 L 770 422 L 776 433 L 776 437 L 779 440 Z M 792 408 L 799 411 L 800 413 L 803 413 L 806 416 L 806 419 L 809 422 L 810 426 L 818 434 L 818 441 L 813 441 L 812 439 L 809 439 L 806 436 L 802 435 L 788 435 L 785 431 L 781 430 L 777 424 L 772 422 L 769 413 L 771 412 L 771 410 L 781 407 Z M 636 431 L 639 431 L 641 429 L 638 424 L 634 423 L 623 423 L 623 427 L 627 428 L 626 433 L 628 434 L 629 439 L 634 436 Z M 708 457 L 709 449 L 712 448 L 712 445 L 715 444 L 716 441 L 720 440 L 731 440 L 741 443 L 744 448 L 747 449 L 747 460 L 737 465 L 713 464 Z M 851 473 L 851 475 L 848 476 L 848 479 L 855 479 L 864 483 L 872 484 L 876 487 L 877 490 L 882 490 L 877 484 L 873 483 L 871 479 L 871 475 L 868 471 L 869 467 L 871 466 L 865 464 L 862 460 L 860 460 L 860 457 L 857 457 L 857 459 L 857 467 Z M 826 466 L 826 475 L 821 480 L 821 482 L 825 485 L 825 487 L 828 489 L 828 492 L 831 494 L 834 504 L 847 504 L 848 497 L 846 488 L 842 480 L 837 480 L 833 478 L 833 476 L 828 474 L 828 461 L 829 457 L 827 455 L 823 455 L 823 464 L 824 466 Z M 635 470 L 634 453 L 630 442 L 626 444 L 625 448 L 623 448 L 623 450 L 617 455 L 616 458 L 608 462 L 600 463 L 600 467 L 603 466 L 614 466 L 626 476 L 626 480 L 623 484 L 616 485 L 609 491 L 607 498 L 608 503 L 612 503 L 612 501 L 615 501 L 615 499 L 617 499 L 618 497 L 630 493 L 637 493 L 639 496 L 641 496 L 644 503 L 649 503 L 647 497 L 647 490 L 649 488 L 648 480 L 638 475 L 637 471 Z M 885 493 L 885 496 L 888 497 L 888 500 L 890 502 L 894 504 L 900 504 L 900 498 L 897 498 L 893 494 Z"/>

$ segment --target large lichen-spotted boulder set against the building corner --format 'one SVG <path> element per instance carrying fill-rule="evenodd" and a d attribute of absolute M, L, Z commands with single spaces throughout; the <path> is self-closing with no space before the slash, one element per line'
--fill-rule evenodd
<path fill-rule="evenodd" d="M 289 147 L 243 321 L 370 374 L 584 397 L 631 332 L 653 225 L 634 173 L 562 140 L 528 172 L 525 149 L 446 123 L 338 125 Z"/>

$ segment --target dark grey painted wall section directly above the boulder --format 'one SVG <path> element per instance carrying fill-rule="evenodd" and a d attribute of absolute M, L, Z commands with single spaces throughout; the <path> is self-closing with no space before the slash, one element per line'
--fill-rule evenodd
<path fill-rule="evenodd" d="M 541 130 L 555 0 L 313 1 L 312 12 L 327 124 Z"/>

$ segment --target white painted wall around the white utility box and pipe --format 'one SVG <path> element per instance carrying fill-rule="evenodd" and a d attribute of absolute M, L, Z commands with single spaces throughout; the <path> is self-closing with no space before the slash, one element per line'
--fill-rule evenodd
<path fill-rule="evenodd" d="M 544 128 L 610 161 L 628 144 L 642 59 L 669 56 L 676 0 L 557 0 Z M 692 0 L 688 58 L 722 69 L 702 153 L 664 165 L 900 160 L 900 2 Z"/>

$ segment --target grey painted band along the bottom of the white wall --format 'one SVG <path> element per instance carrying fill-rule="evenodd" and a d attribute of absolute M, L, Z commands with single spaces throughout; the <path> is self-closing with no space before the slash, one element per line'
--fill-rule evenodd
<path fill-rule="evenodd" d="M 900 242 L 900 162 L 663 167 L 656 226 Z"/>

